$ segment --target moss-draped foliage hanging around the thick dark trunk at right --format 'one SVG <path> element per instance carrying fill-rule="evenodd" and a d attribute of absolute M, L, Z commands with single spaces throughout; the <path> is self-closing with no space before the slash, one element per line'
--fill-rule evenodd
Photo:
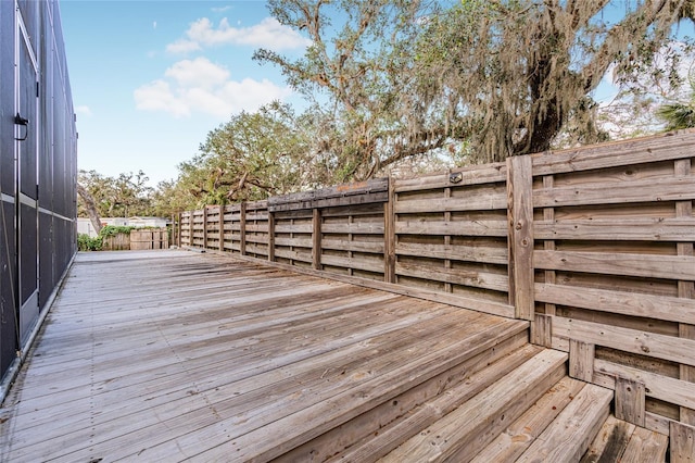
<path fill-rule="evenodd" d="M 418 38 L 417 93 L 448 112 L 472 161 L 601 141 L 592 92 L 609 70 L 626 88 L 659 67 L 678 80 L 679 53 L 664 50 L 683 4 L 463 1 Z"/>

